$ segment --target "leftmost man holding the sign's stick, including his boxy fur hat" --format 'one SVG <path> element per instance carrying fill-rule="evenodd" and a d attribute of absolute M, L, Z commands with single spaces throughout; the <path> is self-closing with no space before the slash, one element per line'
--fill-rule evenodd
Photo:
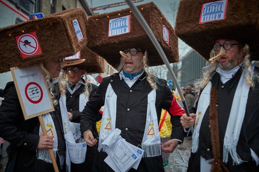
<path fill-rule="evenodd" d="M 66 33 L 66 30 L 68 32 L 72 31 L 73 25 L 71 19 L 75 18 L 84 23 L 86 21 L 84 10 L 65 10 L 61 13 L 45 16 L 42 19 L 29 20 L 0 30 L 3 41 L 6 42 L 5 40 L 8 40 L 8 45 L 5 45 L 7 49 L 1 50 L 0 61 L 2 64 L 6 64 L 1 67 L 1 72 L 7 72 L 10 70 L 9 67 L 29 67 L 39 64 L 44 79 L 47 82 L 50 98 L 55 109 L 55 111 L 42 115 L 45 128 L 50 131 L 47 133 L 47 136 L 44 136 L 37 117 L 25 120 L 14 82 L 9 82 L 6 85 L 5 100 L 2 102 L 0 108 L 0 114 L 2 116 L 0 119 L 0 130 L 1 137 L 10 142 L 7 148 L 9 157 L 6 167 L 7 171 L 55 171 L 48 149 L 53 150 L 58 170 L 69 170 L 66 134 L 70 131 L 70 124 L 66 110 L 66 91 L 64 90 L 66 81 L 60 64 L 61 62 L 62 64 L 64 63 L 60 58 L 75 54 L 75 52 L 78 52 L 83 47 L 79 44 L 86 43 L 86 39 L 84 39 L 86 35 L 84 33 L 81 43 L 72 43 L 69 41 L 71 39 L 77 40 L 76 33 Z M 49 22 L 51 22 L 51 25 Z M 64 22 L 70 23 L 70 28 L 64 28 Z M 36 27 L 37 29 L 35 29 Z M 85 29 L 84 25 L 81 25 L 81 29 Z M 53 33 L 55 32 L 54 30 L 59 34 Z M 37 46 L 38 50 L 41 49 L 41 52 L 38 52 L 36 55 L 21 57 L 23 54 L 19 51 L 15 39 L 15 36 L 24 37 L 21 31 L 24 34 L 34 33 L 35 40 L 39 40 Z M 63 35 L 60 37 L 53 36 L 50 39 L 49 31 L 53 35 Z M 51 45 L 52 43 L 49 40 L 53 39 L 62 40 L 61 44 L 64 43 L 62 46 L 65 49 L 73 51 L 50 51 L 53 45 Z M 24 40 L 21 41 L 25 42 Z M 71 46 L 77 46 L 78 48 L 73 49 Z M 1 45 L 1 47 L 4 46 Z M 29 47 L 27 48 L 29 49 Z M 38 73 L 38 75 L 41 75 L 41 73 Z M 59 77 L 58 80 L 56 79 L 57 77 Z"/>

